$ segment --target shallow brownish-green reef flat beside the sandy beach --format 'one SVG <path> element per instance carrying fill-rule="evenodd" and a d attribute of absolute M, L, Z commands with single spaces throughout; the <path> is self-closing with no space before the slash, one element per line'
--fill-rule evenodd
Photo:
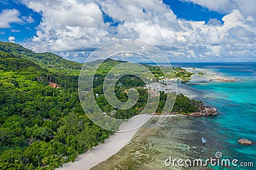
<path fill-rule="evenodd" d="M 108 160 L 100 162 L 92 170 L 102 169 L 182 169 L 175 165 L 170 168 L 164 160 L 173 159 L 207 159 L 200 154 L 204 148 L 202 134 L 198 133 L 198 121 L 195 118 L 172 115 L 163 123 L 159 117 L 153 116 L 132 138 L 129 145 L 124 146 Z M 196 126 L 196 127 L 195 127 Z M 207 136 L 203 135 L 206 139 Z M 202 169 L 202 168 L 198 168 Z"/>

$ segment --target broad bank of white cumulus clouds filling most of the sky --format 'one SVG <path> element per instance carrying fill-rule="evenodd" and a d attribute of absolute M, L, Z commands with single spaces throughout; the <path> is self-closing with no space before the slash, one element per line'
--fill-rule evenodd
<path fill-rule="evenodd" d="M 188 1 L 188 0 L 186 0 Z M 41 13 L 36 36 L 25 46 L 37 52 L 58 52 L 67 59 L 81 59 L 113 39 L 141 39 L 161 46 L 175 59 L 215 59 L 230 55 L 255 54 L 256 24 L 253 13 L 238 8 L 239 0 L 189 0 L 210 10 L 225 11 L 223 24 L 216 18 L 209 22 L 180 20 L 159 0 L 23 0 Z M 252 2 L 253 4 L 253 2 Z M 108 15 L 115 26 L 104 20 Z"/>

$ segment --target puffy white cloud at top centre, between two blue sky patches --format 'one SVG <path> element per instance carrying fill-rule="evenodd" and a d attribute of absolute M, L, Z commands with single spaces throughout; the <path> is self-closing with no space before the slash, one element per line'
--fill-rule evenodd
<path fill-rule="evenodd" d="M 155 45 L 174 45 L 180 25 L 173 11 L 162 1 L 99 1 L 99 4 L 109 17 L 124 22 L 116 28 L 116 38 L 137 38 Z"/>

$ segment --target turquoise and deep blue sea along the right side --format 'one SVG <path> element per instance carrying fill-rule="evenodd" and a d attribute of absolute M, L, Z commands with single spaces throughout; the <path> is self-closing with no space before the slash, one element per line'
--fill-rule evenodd
<path fill-rule="evenodd" d="M 200 118 L 198 128 L 210 140 L 211 152 L 239 162 L 253 162 L 256 169 L 256 145 L 239 145 L 239 138 L 256 141 L 256 63 L 172 63 L 173 67 L 200 67 L 212 69 L 222 75 L 239 78 L 237 82 L 211 82 L 189 85 L 205 93 L 206 105 L 220 113 L 216 117 Z M 213 154 L 213 153 L 212 153 Z M 234 169 L 231 168 L 231 169 Z"/>

